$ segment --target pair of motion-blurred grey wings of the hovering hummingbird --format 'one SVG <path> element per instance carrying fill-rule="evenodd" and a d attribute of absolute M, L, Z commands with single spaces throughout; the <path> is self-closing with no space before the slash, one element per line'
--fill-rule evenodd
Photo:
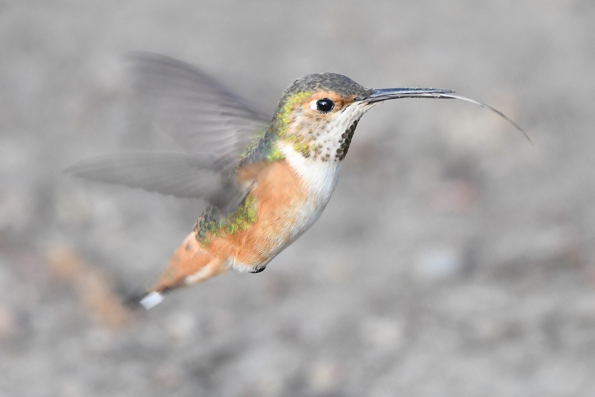
<path fill-rule="evenodd" d="M 235 169 L 245 147 L 264 134 L 270 117 L 202 71 L 152 53 L 130 56 L 134 86 L 157 124 L 189 153 L 134 153 L 98 157 L 65 170 L 78 177 L 201 197 L 225 216 L 246 188 Z"/>

